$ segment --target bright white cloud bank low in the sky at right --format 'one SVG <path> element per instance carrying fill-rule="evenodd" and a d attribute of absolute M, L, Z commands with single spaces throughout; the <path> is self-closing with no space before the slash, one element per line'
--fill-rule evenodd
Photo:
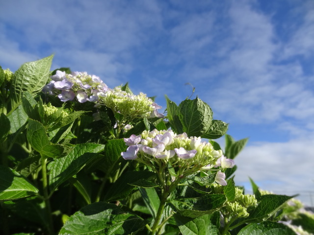
<path fill-rule="evenodd" d="M 289 195 L 301 193 L 310 205 L 309 191 L 314 192 L 314 139 L 282 143 L 253 143 L 235 158 L 235 182 L 248 186 L 251 177 L 260 188 Z"/>

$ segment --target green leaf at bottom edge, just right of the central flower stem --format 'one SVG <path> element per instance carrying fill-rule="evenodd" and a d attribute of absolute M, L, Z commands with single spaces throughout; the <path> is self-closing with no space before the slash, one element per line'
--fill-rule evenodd
<path fill-rule="evenodd" d="M 211 222 L 213 214 L 205 214 L 198 218 L 174 215 L 182 235 L 220 235 L 218 228 Z"/>

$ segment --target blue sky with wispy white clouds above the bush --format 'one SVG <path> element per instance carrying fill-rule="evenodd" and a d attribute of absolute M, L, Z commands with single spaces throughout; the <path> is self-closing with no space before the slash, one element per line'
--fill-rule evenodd
<path fill-rule="evenodd" d="M 54 54 L 109 86 L 180 103 L 196 88 L 235 140 L 236 183 L 314 195 L 313 0 L 0 1 L 0 65 Z M 218 140 L 223 145 L 223 140 Z M 314 201 L 314 198 L 313 198 Z"/>

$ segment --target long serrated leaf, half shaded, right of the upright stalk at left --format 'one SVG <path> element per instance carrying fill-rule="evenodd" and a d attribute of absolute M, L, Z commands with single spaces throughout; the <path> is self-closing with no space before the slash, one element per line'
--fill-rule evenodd
<path fill-rule="evenodd" d="M 74 176 L 88 162 L 93 161 L 104 150 L 104 145 L 96 143 L 76 144 L 65 157 L 55 159 L 48 164 L 50 170 L 49 185 L 53 191 L 63 182 Z"/>

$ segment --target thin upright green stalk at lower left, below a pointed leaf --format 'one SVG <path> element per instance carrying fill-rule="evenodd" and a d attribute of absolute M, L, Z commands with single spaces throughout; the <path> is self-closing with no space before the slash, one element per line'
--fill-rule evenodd
<path fill-rule="evenodd" d="M 52 223 L 52 211 L 48 194 L 48 180 L 47 180 L 47 158 L 41 155 L 41 168 L 43 174 L 43 190 L 44 190 L 44 201 L 48 215 L 48 233 L 53 234 L 53 223 Z"/>

